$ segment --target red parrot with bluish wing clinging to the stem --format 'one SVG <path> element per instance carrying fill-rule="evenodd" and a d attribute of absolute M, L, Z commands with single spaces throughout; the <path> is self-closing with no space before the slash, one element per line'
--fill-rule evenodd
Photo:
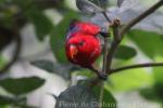
<path fill-rule="evenodd" d="M 99 33 L 106 35 L 96 24 L 79 21 L 72 22 L 65 42 L 67 59 L 82 67 L 92 68 L 92 64 L 102 51 L 101 41 L 97 37 Z M 102 72 L 97 73 L 99 78 L 106 78 Z"/>

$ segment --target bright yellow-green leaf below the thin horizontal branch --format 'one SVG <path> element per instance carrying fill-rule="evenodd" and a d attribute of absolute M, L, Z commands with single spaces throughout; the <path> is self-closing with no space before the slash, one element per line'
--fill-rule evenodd
<path fill-rule="evenodd" d="M 153 84 L 152 75 L 147 72 L 146 69 L 123 70 L 111 75 L 110 81 L 114 86 L 110 86 L 110 82 L 108 82 L 109 89 L 117 92 L 137 90 Z"/>

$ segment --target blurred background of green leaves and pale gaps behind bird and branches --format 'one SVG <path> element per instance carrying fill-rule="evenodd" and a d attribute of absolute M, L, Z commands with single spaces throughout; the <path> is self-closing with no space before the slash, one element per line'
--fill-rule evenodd
<path fill-rule="evenodd" d="M 90 0 L 98 5 L 97 0 Z M 101 0 L 111 19 L 125 25 L 159 0 Z M 127 0 L 126 0 L 127 1 Z M 99 14 L 86 15 L 75 0 L 0 0 L 0 108 L 54 108 L 55 98 L 78 80 L 96 75 L 67 62 L 64 41 L 77 18 L 106 27 Z M 163 8 L 127 32 L 113 67 L 163 62 Z M 102 66 L 102 57 L 97 60 Z M 163 68 L 113 73 L 105 87 L 117 108 L 162 108 Z"/>

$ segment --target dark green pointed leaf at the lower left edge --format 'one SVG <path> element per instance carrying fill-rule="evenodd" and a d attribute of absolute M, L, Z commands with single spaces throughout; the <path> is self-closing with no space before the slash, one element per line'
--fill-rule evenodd
<path fill-rule="evenodd" d="M 0 86 L 2 86 L 5 91 L 14 94 L 22 95 L 29 93 L 38 87 L 40 87 L 45 83 L 43 79 L 32 77 L 32 78 L 7 78 L 0 80 Z"/>

